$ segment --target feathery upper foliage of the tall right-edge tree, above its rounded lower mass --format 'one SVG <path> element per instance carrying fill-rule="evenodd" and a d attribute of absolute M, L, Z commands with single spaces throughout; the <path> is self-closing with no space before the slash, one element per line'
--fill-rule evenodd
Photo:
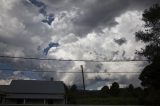
<path fill-rule="evenodd" d="M 147 46 L 137 53 L 154 61 L 160 57 L 160 6 L 155 4 L 146 9 L 142 20 L 145 22 L 145 30 L 136 32 L 136 38 L 145 42 Z"/>

